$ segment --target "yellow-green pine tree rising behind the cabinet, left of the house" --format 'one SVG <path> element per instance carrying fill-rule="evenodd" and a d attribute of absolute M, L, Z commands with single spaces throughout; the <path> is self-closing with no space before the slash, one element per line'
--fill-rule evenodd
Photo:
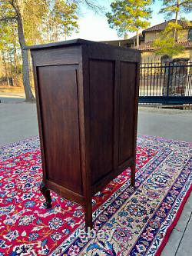
<path fill-rule="evenodd" d="M 116 28 L 118 35 L 125 32 L 136 32 L 137 48 L 139 30 L 150 25 L 151 0 L 115 0 L 111 3 L 112 12 L 106 14 L 111 28 Z"/>

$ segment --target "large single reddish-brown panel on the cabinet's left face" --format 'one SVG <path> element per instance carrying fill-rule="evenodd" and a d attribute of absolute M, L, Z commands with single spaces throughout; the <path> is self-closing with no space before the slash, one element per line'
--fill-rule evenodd
<path fill-rule="evenodd" d="M 46 179 L 81 192 L 78 65 L 38 67 Z"/>

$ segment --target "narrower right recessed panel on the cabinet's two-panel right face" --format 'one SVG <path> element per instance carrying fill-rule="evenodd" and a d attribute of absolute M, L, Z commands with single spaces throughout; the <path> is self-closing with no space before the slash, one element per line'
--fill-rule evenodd
<path fill-rule="evenodd" d="M 134 62 L 121 62 L 119 165 L 134 154 L 134 107 L 136 68 Z"/>

